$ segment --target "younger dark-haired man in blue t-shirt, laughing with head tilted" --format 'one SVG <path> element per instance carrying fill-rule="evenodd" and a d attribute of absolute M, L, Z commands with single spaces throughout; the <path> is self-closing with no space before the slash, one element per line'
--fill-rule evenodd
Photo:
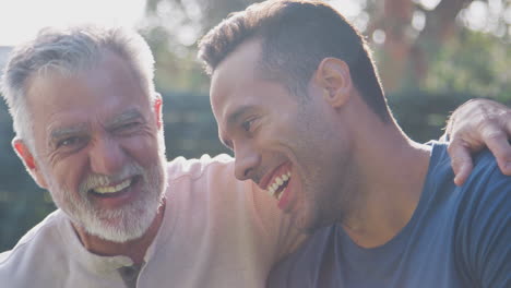
<path fill-rule="evenodd" d="M 237 178 L 312 232 L 270 287 L 510 287 L 511 177 L 485 151 L 456 187 L 447 145 L 403 133 L 364 37 L 333 8 L 253 4 L 200 50 Z"/>

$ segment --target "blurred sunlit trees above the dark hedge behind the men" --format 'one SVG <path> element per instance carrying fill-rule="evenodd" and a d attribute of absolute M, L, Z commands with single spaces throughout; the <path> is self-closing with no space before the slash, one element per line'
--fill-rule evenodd
<path fill-rule="evenodd" d="M 151 24 L 143 34 L 155 51 L 157 86 L 164 91 L 207 92 L 207 77 L 195 59 L 197 45 L 190 39 L 198 40 L 230 12 L 260 1 L 150 0 Z M 511 97 L 509 35 L 499 32 L 510 29 L 504 15 L 511 10 L 510 1 L 439 1 L 432 7 L 431 1 L 421 0 L 350 0 L 346 5 L 341 0 L 325 2 L 341 11 L 344 7 L 359 7 L 358 15 L 348 19 L 355 24 L 365 23 L 357 26 L 376 47 L 385 91 L 454 91 L 498 99 Z M 411 9 L 402 9 L 403 4 L 411 4 Z M 470 23 L 473 4 L 486 8 L 491 16 L 479 28 L 482 32 L 474 32 Z M 424 27 L 414 25 L 417 22 L 425 23 Z M 385 43 L 371 41 L 377 29 L 385 33 Z M 397 35 L 392 36 L 394 33 Z M 183 34 L 190 39 L 183 41 Z"/>

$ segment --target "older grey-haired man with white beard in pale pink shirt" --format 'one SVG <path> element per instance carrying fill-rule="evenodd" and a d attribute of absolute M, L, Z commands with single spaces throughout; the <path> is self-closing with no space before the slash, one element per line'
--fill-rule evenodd
<path fill-rule="evenodd" d="M 228 156 L 165 160 L 143 39 L 44 31 L 14 51 L 13 146 L 58 211 L 0 256 L 10 287 L 262 287 L 300 240 Z"/>

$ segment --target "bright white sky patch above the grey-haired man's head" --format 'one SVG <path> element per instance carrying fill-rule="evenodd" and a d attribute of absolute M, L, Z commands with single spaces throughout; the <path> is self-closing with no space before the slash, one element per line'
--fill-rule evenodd
<path fill-rule="evenodd" d="M 14 46 L 45 26 L 81 23 L 135 26 L 145 0 L 0 0 L 0 46 Z"/>

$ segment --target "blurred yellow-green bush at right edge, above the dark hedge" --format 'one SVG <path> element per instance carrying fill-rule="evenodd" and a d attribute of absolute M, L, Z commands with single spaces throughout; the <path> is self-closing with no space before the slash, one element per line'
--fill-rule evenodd
<path fill-rule="evenodd" d="M 511 100 L 511 48 L 488 34 L 464 31 L 439 49 L 425 80 L 428 91 L 470 92 Z"/>

